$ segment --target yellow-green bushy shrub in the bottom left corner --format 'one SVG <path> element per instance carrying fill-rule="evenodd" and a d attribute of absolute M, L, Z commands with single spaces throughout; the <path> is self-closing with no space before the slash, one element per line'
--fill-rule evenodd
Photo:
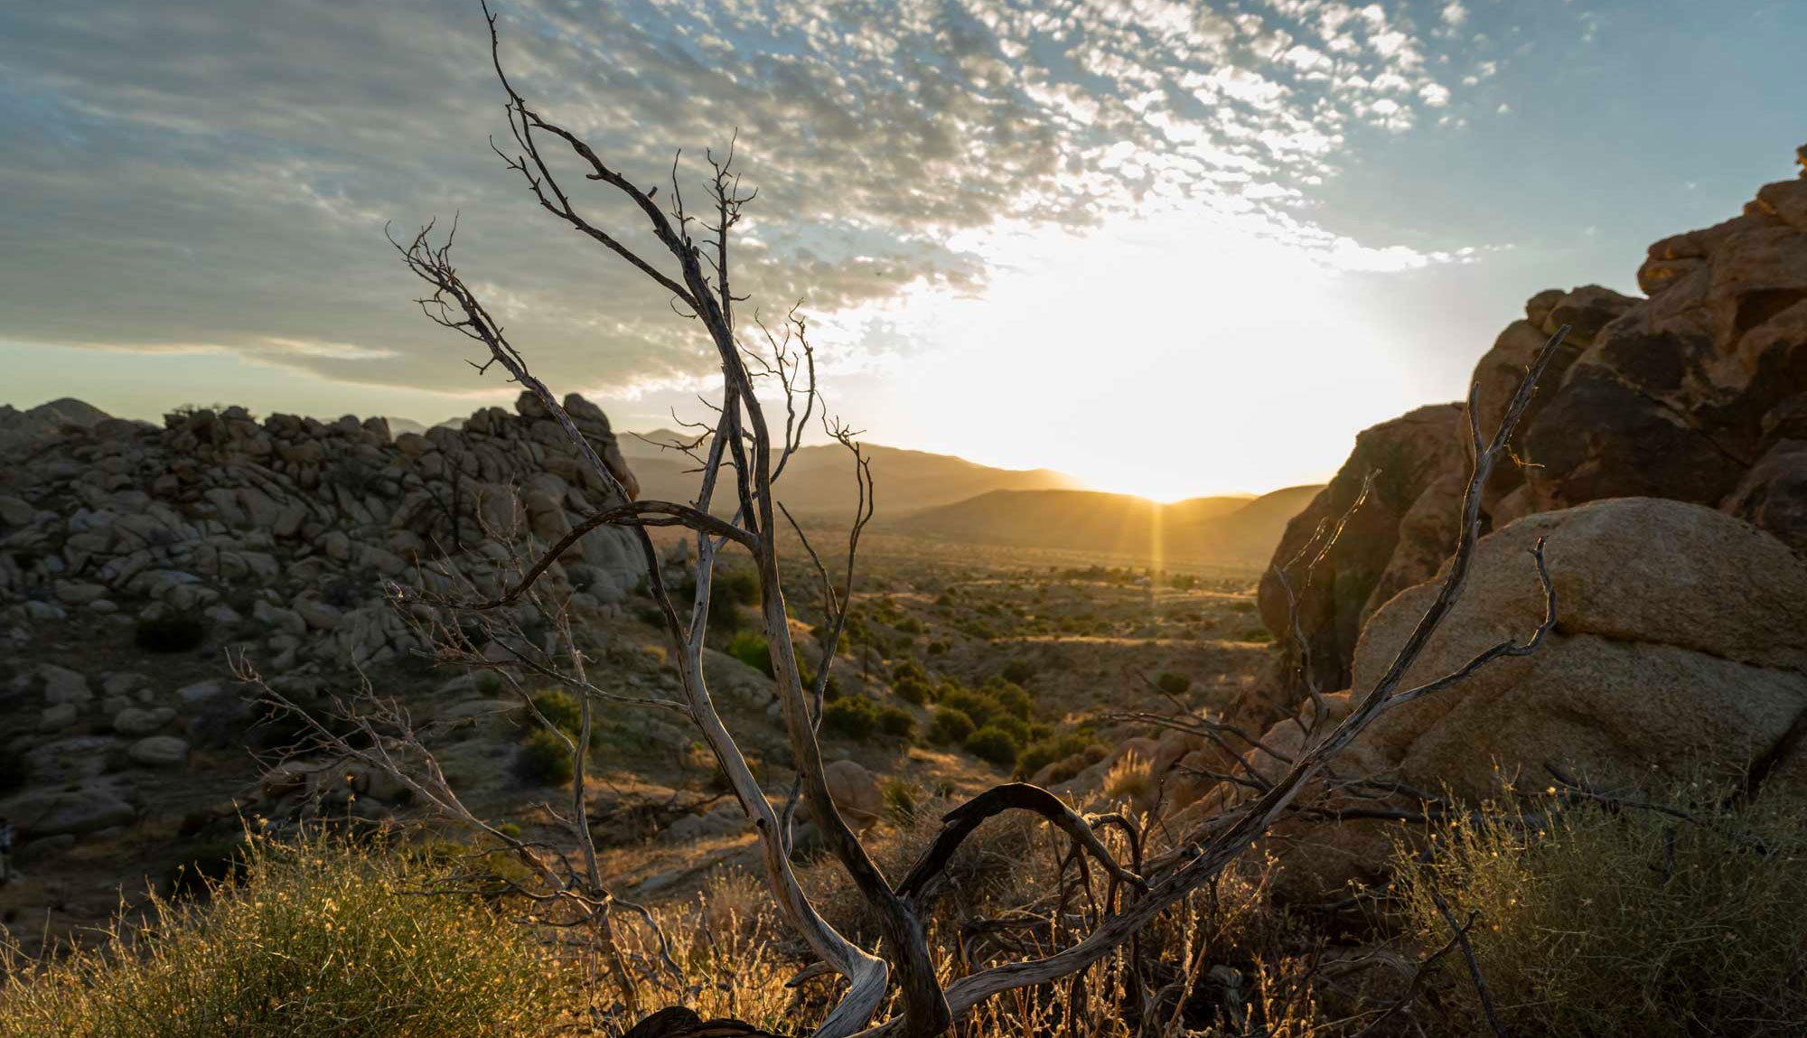
<path fill-rule="evenodd" d="M 542 1034 L 538 942 L 379 843 L 253 839 L 210 902 L 152 899 L 143 928 L 27 962 L 0 944 L 4 1038 L 437 1038 Z"/>

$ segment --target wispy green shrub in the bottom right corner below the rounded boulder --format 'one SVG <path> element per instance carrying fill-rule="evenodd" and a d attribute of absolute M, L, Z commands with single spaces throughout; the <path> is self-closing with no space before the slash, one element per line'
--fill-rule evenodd
<path fill-rule="evenodd" d="M 1697 823 L 1554 797 L 1458 821 L 1428 861 L 1402 854 L 1406 917 L 1440 944 L 1433 890 L 1458 920 L 1478 913 L 1475 955 L 1514 1034 L 1800 1034 L 1807 821 L 1681 792 Z"/>

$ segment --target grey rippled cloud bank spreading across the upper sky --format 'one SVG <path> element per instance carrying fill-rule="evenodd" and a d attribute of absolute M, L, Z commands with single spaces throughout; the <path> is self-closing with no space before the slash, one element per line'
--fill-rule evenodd
<path fill-rule="evenodd" d="M 759 188 L 739 284 L 824 315 L 985 291 L 996 260 L 960 242 L 999 222 L 1084 233 L 1202 210 L 1325 262 L 1402 269 L 1303 213 L 1352 134 L 1404 132 L 1453 103 L 1426 72 L 1428 40 L 1379 4 L 501 9 L 517 85 L 638 183 L 663 183 L 679 148 L 694 172 L 737 130 Z M 1460 24 L 1451 11 L 1442 22 Z M 4 24 L 0 302 L 14 340 L 210 344 L 468 391 L 468 344 L 419 316 L 419 286 L 381 237 L 457 213 L 461 269 L 548 378 L 625 392 L 712 365 L 667 300 L 542 213 L 488 150 L 506 128 L 475 4 L 65 0 Z M 649 246 L 632 212 L 560 170 L 600 222 Z M 840 345 L 853 356 L 858 342 Z"/>

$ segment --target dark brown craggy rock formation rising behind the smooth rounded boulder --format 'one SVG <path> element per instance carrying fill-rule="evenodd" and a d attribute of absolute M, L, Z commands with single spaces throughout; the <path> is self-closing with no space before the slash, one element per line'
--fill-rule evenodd
<path fill-rule="evenodd" d="M 1484 521 L 1514 519 L 1612 497 L 1668 497 L 1722 508 L 1807 550 L 1807 174 L 1764 186 L 1742 215 L 1650 246 L 1639 269 L 1650 298 L 1587 286 L 1543 291 L 1475 369 L 1476 416 L 1491 432 L 1545 338 L 1572 331 L 1520 427 L 1525 468 L 1496 470 Z M 1455 410 L 1451 405 L 1449 410 Z M 1288 528 L 1285 562 L 1323 519 L 1353 501 L 1415 410 L 1357 438 L 1337 481 Z M 1435 432 L 1426 432 L 1435 436 Z M 1413 448 L 1409 479 L 1384 486 L 1350 519 L 1344 539 L 1301 595 L 1312 673 L 1325 691 L 1348 685 L 1355 633 L 1400 590 L 1424 580 L 1455 548 L 1467 477 L 1465 420 L 1442 445 Z M 1382 483 L 1386 476 L 1382 474 Z M 1288 638 L 1285 599 L 1269 577 L 1261 617 Z M 1303 680 L 1279 667 L 1265 705 L 1287 712 Z M 1261 718 L 1267 720 L 1267 718 Z"/>

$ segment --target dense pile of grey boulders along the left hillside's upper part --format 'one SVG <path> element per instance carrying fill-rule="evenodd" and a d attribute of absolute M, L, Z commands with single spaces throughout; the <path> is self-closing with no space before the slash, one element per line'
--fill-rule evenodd
<path fill-rule="evenodd" d="M 638 492 L 602 410 L 575 394 L 564 403 Z M 155 429 L 58 401 L 5 423 L 33 443 L 0 476 L 0 624 L 14 642 L 78 611 L 186 617 L 278 675 L 421 647 L 385 600 L 387 582 L 450 591 L 423 564 L 452 557 L 493 593 L 501 541 L 544 550 L 613 494 L 529 394 L 517 414 L 490 407 L 463 429 L 394 439 L 379 418 L 258 423 L 237 407 L 172 414 Z M 604 528 L 549 579 L 609 608 L 640 570 L 632 537 Z M 78 698 L 52 696 L 51 707 Z"/>

